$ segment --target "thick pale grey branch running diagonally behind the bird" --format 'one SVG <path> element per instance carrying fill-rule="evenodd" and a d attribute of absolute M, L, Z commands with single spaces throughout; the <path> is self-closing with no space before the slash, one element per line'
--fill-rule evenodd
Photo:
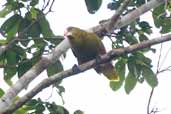
<path fill-rule="evenodd" d="M 117 24 L 116 28 L 121 28 L 131 21 L 134 21 L 136 18 L 138 18 L 141 14 L 147 12 L 148 10 L 159 6 L 160 4 L 164 3 L 164 0 L 151 0 L 149 3 L 142 5 L 140 8 L 136 9 L 135 11 L 127 14 L 126 16 L 122 17 Z M 108 22 L 105 23 L 106 25 Z M 92 32 L 100 32 L 101 31 L 101 26 L 98 25 L 96 27 L 91 28 L 90 30 Z M 158 42 L 160 43 L 160 42 Z M 136 46 L 136 45 L 134 45 Z M 50 63 L 55 62 L 58 60 L 58 58 L 65 53 L 69 49 L 70 45 L 67 39 L 63 40 L 54 50 L 53 53 L 50 53 L 46 57 L 42 57 L 42 59 L 35 64 L 30 70 L 28 70 L 14 85 L 11 86 L 11 88 L 1 97 L 0 99 L 0 113 L 4 112 L 12 103 L 16 95 L 25 87 L 28 86 L 28 84 L 36 78 L 44 69 L 47 68 L 47 66 Z M 143 48 L 143 47 L 142 47 Z M 3 50 L 0 52 L 2 54 L 7 48 L 2 48 L 0 47 L 0 50 Z M 129 49 L 129 48 L 127 48 Z M 138 48 L 137 48 L 138 49 Z M 118 49 L 119 50 L 119 49 Z M 123 53 L 123 52 L 122 52 Z"/>

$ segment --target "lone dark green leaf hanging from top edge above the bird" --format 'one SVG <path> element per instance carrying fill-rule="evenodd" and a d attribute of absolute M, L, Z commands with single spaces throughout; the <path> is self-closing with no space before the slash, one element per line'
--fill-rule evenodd
<path fill-rule="evenodd" d="M 102 0 L 85 0 L 85 3 L 88 12 L 94 14 L 100 8 Z"/>

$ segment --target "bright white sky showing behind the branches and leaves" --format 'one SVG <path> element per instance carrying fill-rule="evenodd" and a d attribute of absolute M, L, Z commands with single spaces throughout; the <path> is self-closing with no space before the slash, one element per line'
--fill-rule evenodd
<path fill-rule="evenodd" d="M 108 2 L 110 2 L 110 0 L 103 0 L 101 9 L 96 14 L 91 15 L 86 10 L 84 0 L 56 0 L 53 6 L 54 12 L 48 14 L 48 20 L 53 32 L 56 35 L 62 35 L 68 26 L 87 29 L 97 25 L 100 20 L 107 19 L 114 13 L 107 9 L 106 6 Z M 144 20 L 151 20 L 150 13 L 144 15 L 144 17 L 142 16 L 142 18 Z M 151 38 L 159 36 L 160 34 L 155 30 Z M 105 39 L 104 43 L 106 44 L 106 48 L 110 50 L 109 40 Z M 166 44 L 167 45 L 164 45 L 163 53 L 165 53 L 170 46 L 170 43 Z M 159 45 L 155 47 L 159 47 Z M 154 60 L 154 71 L 156 71 L 158 55 L 158 52 L 156 54 L 148 54 L 148 56 Z M 168 58 L 170 58 L 169 56 L 170 55 L 168 55 Z M 164 57 L 164 54 L 162 57 Z M 71 68 L 77 63 L 71 50 L 67 52 L 66 59 L 62 60 L 62 63 L 65 69 Z M 169 63 L 170 61 L 168 59 L 163 67 L 170 65 Z M 46 77 L 45 72 L 29 85 L 29 89 L 40 82 L 44 77 Z M 1 81 L 2 77 L 0 77 L 0 82 Z M 171 77 L 169 72 L 159 75 L 159 85 L 155 89 L 151 105 L 161 111 L 158 114 L 171 113 L 170 81 Z M 109 81 L 105 77 L 97 75 L 94 70 L 88 70 L 77 76 L 64 79 L 62 85 L 66 89 L 66 92 L 63 94 L 65 100 L 64 106 L 71 113 L 80 109 L 84 111 L 85 114 L 146 114 L 146 107 L 151 91 L 151 88 L 146 83 L 143 83 L 137 84 L 136 88 L 129 95 L 125 93 L 123 87 L 119 91 L 113 92 L 109 87 Z M 0 86 L 7 87 L 4 83 L 0 83 Z M 38 96 L 41 96 L 43 99 L 48 99 L 51 92 L 51 88 L 45 89 L 39 93 Z M 62 105 L 62 101 L 58 94 L 56 94 L 55 89 L 53 93 L 49 100 Z"/>

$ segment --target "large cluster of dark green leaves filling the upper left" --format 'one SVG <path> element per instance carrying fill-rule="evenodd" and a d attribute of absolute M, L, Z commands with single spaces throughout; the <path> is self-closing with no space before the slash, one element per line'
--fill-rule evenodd
<path fill-rule="evenodd" d="M 9 0 L 0 11 L 0 17 L 10 15 L 0 27 L 3 33 L 0 45 L 13 41 L 10 50 L 0 56 L 4 80 L 9 85 L 12 84 L 12 77 L 17 75 L 20 78 L 63 39 L 54 35 L 46 15 L 36 7 L 38 3 L 39 0 Z M 62 66 L 60 62 L 55 65 Z"/>

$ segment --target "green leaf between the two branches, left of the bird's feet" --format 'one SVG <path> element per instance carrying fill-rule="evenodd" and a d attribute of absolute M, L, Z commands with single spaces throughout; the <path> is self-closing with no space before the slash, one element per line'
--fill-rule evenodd
<path fill-rule="evenodd" d="M 49 65 L 47 68 L 48 76 L 52 76 L 61 71 L 63 71 L 63 66 L 60 61 L 57 61 L 56 63 Z"/>

